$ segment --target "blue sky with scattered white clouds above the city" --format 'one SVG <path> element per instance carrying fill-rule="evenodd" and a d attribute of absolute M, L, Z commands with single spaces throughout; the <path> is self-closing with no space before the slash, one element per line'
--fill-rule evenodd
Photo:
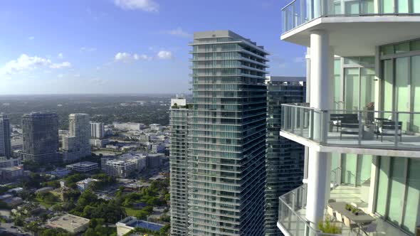
<path fill-rule="evenodd" d="M 304 76 L 280 41 L 291 0 L 4 0 L 0 95 L 186 93 L 195 31 L 231 30 L 268 52 L 270 75 Z"/>

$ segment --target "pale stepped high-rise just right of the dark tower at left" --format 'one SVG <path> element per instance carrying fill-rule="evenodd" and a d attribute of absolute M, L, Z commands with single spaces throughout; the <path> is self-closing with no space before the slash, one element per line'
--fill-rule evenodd
<path fill-rule="evenodd" d="M 65 162 L 90 155 L 90 127 L 89 114 L 78 113 L 68 116 L 68 136 L 63 139 Z"/>

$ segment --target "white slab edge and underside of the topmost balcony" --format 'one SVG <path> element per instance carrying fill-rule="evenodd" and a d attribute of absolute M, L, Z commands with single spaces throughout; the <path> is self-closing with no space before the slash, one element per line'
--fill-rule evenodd
<path fill-rule="evenodd" d="M 420 38 L 420 16 L 322 17 L 284 33 L 283 41 L 310 46 L 310 32 L 330 33 L 335 55 L 374 55 L 375 46 Z"/>

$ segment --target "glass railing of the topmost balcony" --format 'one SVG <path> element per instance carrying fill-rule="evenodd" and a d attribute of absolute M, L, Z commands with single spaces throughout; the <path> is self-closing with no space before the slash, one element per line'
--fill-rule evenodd
<path fill-rule="evenodd" d="M 418 0 L 294 0 L 282 11 L 283 31 L 321 16 L 419 15 Z"/>

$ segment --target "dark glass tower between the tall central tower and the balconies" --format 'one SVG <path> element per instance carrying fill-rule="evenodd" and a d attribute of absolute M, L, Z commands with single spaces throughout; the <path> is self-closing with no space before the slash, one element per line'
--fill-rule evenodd
<path fill-rule="evenodd" d="M 280 235 L 277 227 L 278 196 L 302 184 L 304 146 L 280 136 L 283 103 L 305 102 L 305 77 L 266 77 L 266 235 Z"/>

